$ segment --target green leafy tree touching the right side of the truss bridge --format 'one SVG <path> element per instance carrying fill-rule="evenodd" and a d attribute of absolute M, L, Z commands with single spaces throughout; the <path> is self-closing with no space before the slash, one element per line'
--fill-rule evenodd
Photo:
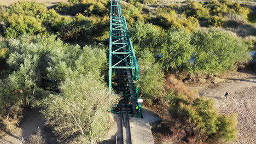
<path fill-rule="evenodd" d="M 155 63 L 155 59 L 149 51 L 143 51 L 143 55 L 138 59 L 139 64 L 139 81 L 136 85 L 142 98 L 158 98 L 164 91 L 164 73 L 161 66 Z"/>

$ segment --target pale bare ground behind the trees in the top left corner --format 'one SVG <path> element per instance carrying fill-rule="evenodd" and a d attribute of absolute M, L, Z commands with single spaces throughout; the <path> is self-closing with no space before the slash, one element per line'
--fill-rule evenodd
<path fill-rule="evenodd" d="M 35 1 L 45 3 L 47 6 L 51 6 L 57 4 L 61 1 L 67 2 L 67 0 L 0 0 L 0 4 L 10 5 L 11 3 L 18 2 L 18 1 Z"/>

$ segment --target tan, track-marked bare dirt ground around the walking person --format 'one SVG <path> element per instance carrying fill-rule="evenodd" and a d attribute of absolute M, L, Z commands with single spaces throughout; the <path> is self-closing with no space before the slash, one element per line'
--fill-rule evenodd
<path fill-rule="evenodd" d="M 220 114 L 237 115 L 238 140 L 231 144 L 256 143 L 256 76 L 245 79 L 232 79 L 218 87 L 198 88 L 200 96 L 214 100 Z M 229 92 L 228 99 L 224 94 Z"/>

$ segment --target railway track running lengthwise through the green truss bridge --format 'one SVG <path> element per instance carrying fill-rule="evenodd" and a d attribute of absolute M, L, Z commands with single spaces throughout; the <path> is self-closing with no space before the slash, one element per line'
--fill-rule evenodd
<path fill-rule="evenodd" d="M 113 0 L 112 1 L 112 11 L 111 15 L 113 17 L 121 17 L 121 9 L 119 7 L 119 1 Z M 130 55 L 129 53 L 125 53 L 127 51 L 127 47 L 125 46 L 125 32 L 123 29 L 123 21 L 117 21 L 115 23 L 118 28 L 115 29 L 115 37 L 113 37 L 113 41 L 119 41 L 121 43 L 117 43 L 112 45 L 112 51 L 118 51 L 120 47 L 120 54 L 117 54 L 117 57 L 112 58 L 112 62 L 117 63 L 119 67 L 129 67 L 130 59 L 128 58 Z M 121 38 L 121 39 L 120 39 Z M 122 39 L 123 38 L 123 39 Z M 122 59 L 123 61 L 120 61 Z M 119 63 L 118 63 L 119 62 Z M 117 83 L 115 86 L 115 91 L 122 95 L 122 99 L 119 101 L 119 112 L 120 112 L 120 121 L 121 127 L 123 132 L 123 139 L 119 139 L 118 143 L 127 143 L 130 144 L 131 142 L 131 131 L 130 131 L 130 122 L 129 122 L 129 114 L 132 114 L 132 101 L 130 100 L 131 92 L 134 91 L 132 88 L 132 76 L 131 76 L 131 69 L 119 68 L 115 69 L 114 73 L 117 75 L 117 79 L 114 80 L 114 83 Z"/>

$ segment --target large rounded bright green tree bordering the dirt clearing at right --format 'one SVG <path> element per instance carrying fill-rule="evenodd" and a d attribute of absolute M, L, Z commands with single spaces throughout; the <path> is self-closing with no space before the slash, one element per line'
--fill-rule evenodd
<path fill-rule="evenodd" d="M 191 44 L 196 47 L 191 65 L 193 73 L 218 74 L 251 59 L 248 45 L 241 38 L 221 31 L 196 31 Z"/>

